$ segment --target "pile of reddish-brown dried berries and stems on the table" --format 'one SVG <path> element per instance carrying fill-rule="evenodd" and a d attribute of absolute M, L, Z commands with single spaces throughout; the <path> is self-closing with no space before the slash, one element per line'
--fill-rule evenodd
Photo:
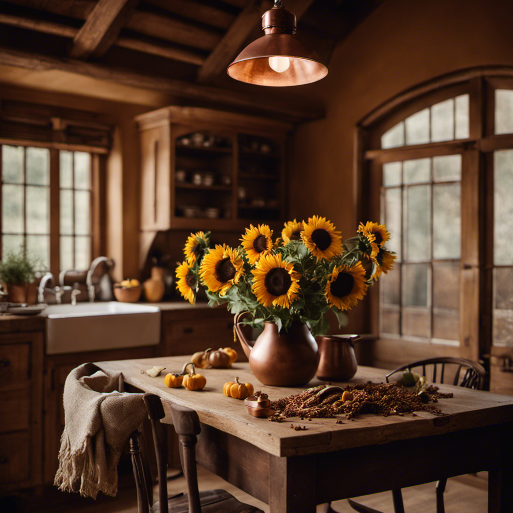
<path fill-rule="evenodd" d="M 397 386 L 395 383 L 361 383 L 347 385 L 344 390 L 353 396 L 351 401 L 343 402 L 340 390 L 330 390 L 330 393 L 319 393 L 329 385 L 319 385 L 309 388 L 302 393 L 272 401 L 271 407 L 275 415 L 270 421 L 283 422 L 286 418 L 301 417 L 301 419 L 327 419 L 335 415 L 345 414 L 346 419 L 352 419 L 360 413 L 377 413 L 383 417 L 389 415 L 404 415 L 413 411 L 428 411 L 438 416 L 447 413 L 434 406 L 438 399 L 451 398 L 452 393 L 442 393 L 438 387 L 429 385 L 417 395 L 410 389 Z M 327 391 L 328 392 L 328 391 Z"/>

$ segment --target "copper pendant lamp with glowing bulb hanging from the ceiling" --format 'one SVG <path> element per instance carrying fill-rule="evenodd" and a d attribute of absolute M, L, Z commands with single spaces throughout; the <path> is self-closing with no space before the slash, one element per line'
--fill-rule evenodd
<path fill-rule="evenodd" d="M 228 74 L 259 86 L 299 86 L 324 78 L 328 68 L 317 54 L 295 35 L 294 13 L 274 0 L 262 16 L 265 35 L 250 43 L 228 66 Z"/>

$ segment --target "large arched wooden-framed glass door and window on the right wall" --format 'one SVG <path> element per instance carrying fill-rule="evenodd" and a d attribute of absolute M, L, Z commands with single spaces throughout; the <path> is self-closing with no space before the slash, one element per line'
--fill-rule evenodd
<path fill-rule="evenodd" d="M 397 253 L 372 291 L 377 362 L 513 354 L 513 70 L 423 84 L 358 130 L 360 216 Z"/>

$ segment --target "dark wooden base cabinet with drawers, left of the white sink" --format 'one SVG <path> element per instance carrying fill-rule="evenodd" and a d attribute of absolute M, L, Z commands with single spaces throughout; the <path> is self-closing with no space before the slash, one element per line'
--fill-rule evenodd
<path fill-rule="evenodd" d="M 0 488 L 42 482 L 44 333 L 0 334 Z"/>

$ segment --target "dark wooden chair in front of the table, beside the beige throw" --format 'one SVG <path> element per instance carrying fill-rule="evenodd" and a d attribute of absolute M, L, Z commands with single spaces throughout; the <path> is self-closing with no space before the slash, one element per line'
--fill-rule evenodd
<path fill-rule="evenodd" d="M 171 404 L 174 430 L 179 436 L 180 459 L 187 484 L 187 494 L 168 497 L 167 494 L 167 450 L 161 419 L 165 417 L 159 396 L 145 393 L 144 404 L 148 411 L 153 433 L 157 463 L 159 501 L 153 503 L 153 487 L 148 465 L 141 456 L 140 432 L 130 438 L 130 453 L 137 485 L 137 511 L 139 513 L 263 513 L 257 507 L 244 504 L 225 490 L 199 491 L 196 472 L 195 445 L 200 434 L 198 413 L 185 406 Z"/>

